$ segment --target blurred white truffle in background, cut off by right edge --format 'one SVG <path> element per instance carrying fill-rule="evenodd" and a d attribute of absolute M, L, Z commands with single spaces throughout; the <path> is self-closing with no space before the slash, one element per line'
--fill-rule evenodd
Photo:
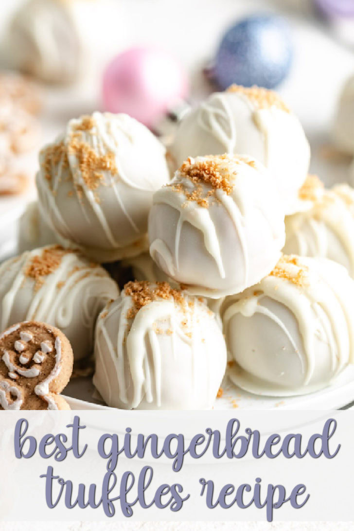
<path fill-rule="evenodd" d="M 341 151 L 354 155 L 354 75 L 343 87 L 334 117 L 332 136 Z"/>

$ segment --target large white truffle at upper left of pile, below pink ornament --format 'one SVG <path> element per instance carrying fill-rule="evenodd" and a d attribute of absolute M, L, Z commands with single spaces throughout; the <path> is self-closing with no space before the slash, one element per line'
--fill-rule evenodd
<path fill-rule="evenodd" d="M 152 196 L 169 172 L 144 125 L 126 114 L 72 119 L 39 159 L 40 209 L 55 232 L 97 262 L 147 249 Z"/>

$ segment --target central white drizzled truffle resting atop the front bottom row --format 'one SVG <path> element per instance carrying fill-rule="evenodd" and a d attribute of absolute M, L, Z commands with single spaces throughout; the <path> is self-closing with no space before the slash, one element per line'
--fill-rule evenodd
<path fill-rule="evenodd" d="M 273 176 L 241 156 L 189 158 L 153 197 L 150 254 L 189 293 L 239 293 L 274 267 L 285 241 Z"/>

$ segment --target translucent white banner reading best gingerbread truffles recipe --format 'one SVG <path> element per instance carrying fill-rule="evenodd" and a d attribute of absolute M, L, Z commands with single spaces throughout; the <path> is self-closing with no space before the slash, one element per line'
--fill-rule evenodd
<path fill-rule="evenodd" d="M 354 412 L 2 412 L 1 520 L 354 520 Z"/>

